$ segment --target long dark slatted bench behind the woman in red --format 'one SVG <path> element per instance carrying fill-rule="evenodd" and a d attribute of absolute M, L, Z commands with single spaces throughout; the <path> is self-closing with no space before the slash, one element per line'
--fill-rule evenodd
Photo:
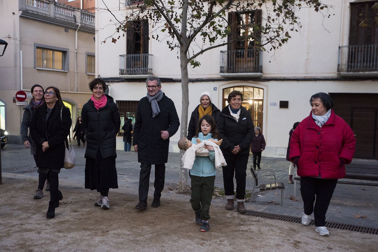
<path fill-rule="evenodd" d="M 351 163 L 345 166 L 345 177 L 339 179 L 339 184 L 357 184 L 363 186 L 378 186 L 378 183 L 361 182 L 361 181 L 349 181 L 349 180 L 369 180 L 378 181 L 378 165 L 376 164 L 358 164 Z M 297 180 L 301 180 L 300 177 L 294 178 L 294 197 L 297 197 Z"/>

